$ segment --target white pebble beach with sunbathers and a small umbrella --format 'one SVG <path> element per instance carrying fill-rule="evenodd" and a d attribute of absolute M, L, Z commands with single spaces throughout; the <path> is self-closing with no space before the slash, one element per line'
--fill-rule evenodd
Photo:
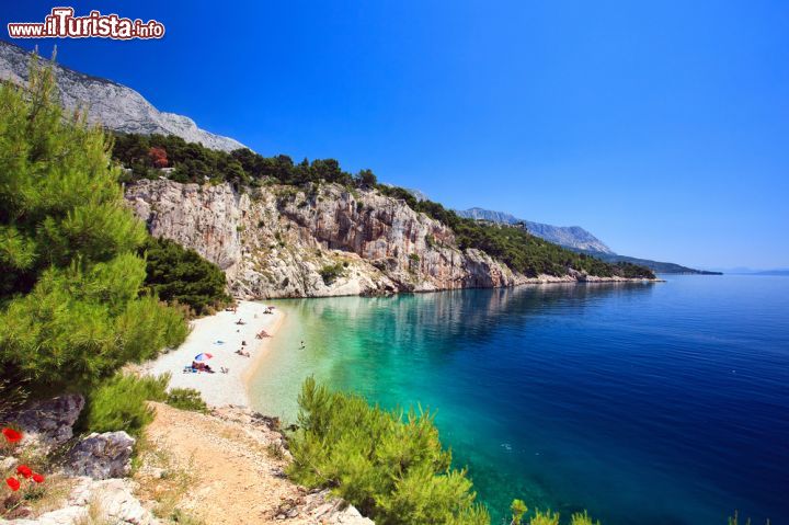
<path fill-rule="evenodd" d="M 278 308 L 274 309 L 274 313 L 264 313 L 265 309 L 265 305 L 261 303 L 240 301 L 235 313 L 220 311 L 192 321 L 192 332 L 186 341 L 176 350 L 146 363 L 142 366 L 144 373 L 160 375 L 169 372 L 172 374 L 171 388 L 199 390 L 203 399 L 210 406 L 249 407 L 247 381 L 285 317 Z M 239 319 L 245 324 L 237 324 Z M 261 330 L 265 330 L 271 338 L 256 339 L 255 334 Z M 242 341 L 245 341 L 247 345 L 242 346 Z M 249 352 L 250 357 L 237 354 L 239 349 Z M 206 363 L 215 370 L 214 374 L 183 372 L 199 353 L 213 355 Z M 228 368 L 228 373 L 222 374 L 221 367 Z"/>

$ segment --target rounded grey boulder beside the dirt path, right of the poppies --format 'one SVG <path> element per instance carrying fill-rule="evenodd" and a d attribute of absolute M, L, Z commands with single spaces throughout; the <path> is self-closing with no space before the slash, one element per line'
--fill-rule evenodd
<path fill-rule="evenodd" d="M 65 470 L 75 476 L 93 479 L 123 478 L 132 469 L 135 438 L 127 433 L 93 433 L 69 450 Z"/>

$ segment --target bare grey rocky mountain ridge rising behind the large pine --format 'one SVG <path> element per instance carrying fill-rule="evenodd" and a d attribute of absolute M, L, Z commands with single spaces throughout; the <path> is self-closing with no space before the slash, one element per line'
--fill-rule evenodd
<path fill-rule="evenodd" d="M 0 80 L 25 83 L 30 57 L 30 52 L 0 41 Z M 132 88 L 112 80 L 91 77 L 58 65 L 55 65 L 55 76 L 64 106 L 68 110 L 87 106 L 89 121 L 101 123 L 107 129 L 175 135 L 187 142 L 199 142 L 207 148 L 224 151 L 244 147 L 238 140 L 198 128 L 186 116 L 157 110 Z"/>

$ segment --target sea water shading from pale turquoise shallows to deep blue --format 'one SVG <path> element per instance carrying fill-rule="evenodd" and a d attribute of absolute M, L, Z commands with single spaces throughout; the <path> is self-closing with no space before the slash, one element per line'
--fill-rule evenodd
<path fill-rule="evenodd" d="M 275 301 L 252 397 L 293 420 L 312 374 L 437 409 L 494 523 L 516 497 L 606 525 L 789 523 L 789 277 L 667 279 Z"/>

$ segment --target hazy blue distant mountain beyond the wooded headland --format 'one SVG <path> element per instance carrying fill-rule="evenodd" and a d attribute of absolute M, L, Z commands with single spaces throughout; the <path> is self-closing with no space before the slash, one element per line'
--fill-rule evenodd
<path fill-rule="evenodd" d="M 696 270 L 681 264 L 651 261 L 649 259 L 638 259 L 628 255 L 615 253 L 602 240 L 581 228 L 580 226 L 551 226 L 541 222 L 533 222 L 530 220 L 518 219 L 514 215 L 503 212 L 493 212 L 482 208 L 469 208 L 457 212 L 461 217 L 472 219 L 490 220 L 493 222 L 502 222 L 507 225 L 516 225 L 523 222 L 528 231 L 537 237 L 554 242 L 557 244 L 569 248 L 573 251 L 586 253 L 596 256 L 605 262 L 629 262 L 647 266 L 655 273 L 673 273 L 673 274 L 697 274 L 697 275 L 720 275 L 720 272 L 707 272 Z"/>

